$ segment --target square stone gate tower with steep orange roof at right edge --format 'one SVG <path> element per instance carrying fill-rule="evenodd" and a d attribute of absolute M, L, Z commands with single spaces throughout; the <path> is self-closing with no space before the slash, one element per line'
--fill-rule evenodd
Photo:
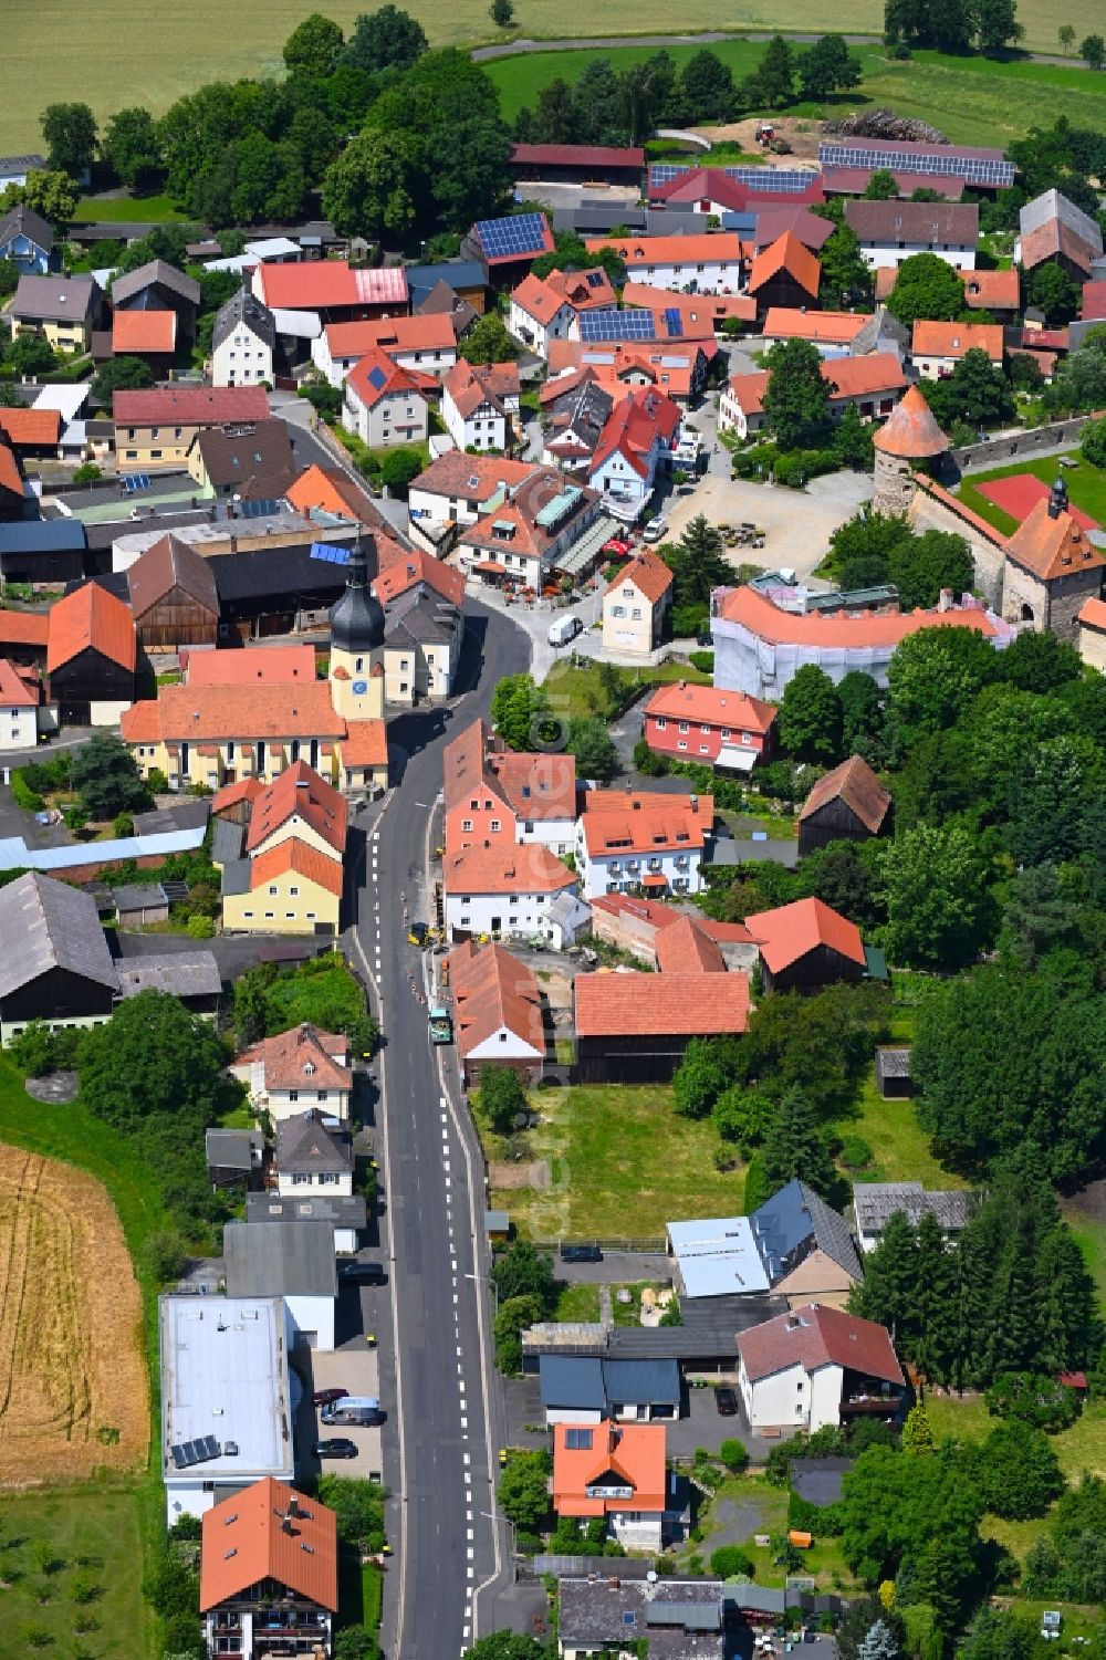
<path fill-rule="evenodd" d="M 1006 543 L 1003 616 L 1079 642 L 1079 611 L 1103 591 L 1106 558 L 1068 511 L 1058 478 Z"/>

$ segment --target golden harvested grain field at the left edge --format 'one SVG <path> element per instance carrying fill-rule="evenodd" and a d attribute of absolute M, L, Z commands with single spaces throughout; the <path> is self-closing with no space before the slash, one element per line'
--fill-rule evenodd
<path fill-rule="evenodd" d="M 101 1184 L 0 1142 L 0 1486 L 144 1464 L 141 1318 Z"/>

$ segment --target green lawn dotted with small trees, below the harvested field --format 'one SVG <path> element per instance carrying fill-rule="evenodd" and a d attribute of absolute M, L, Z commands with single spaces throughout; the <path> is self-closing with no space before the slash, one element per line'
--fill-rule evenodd
<path fill-rule="evenodd" d="M 48 1544 L 50 1574 L 37 1565 L 35 1547 Z M 78 1567 L 78 1557 L 86 1567 Z M 5 1492 L 0 1577 L 5 1653 L 76 1653 L 85 1645 L 95 1660 L 148 1653 L 148 1614 L 141 1597 L 139 1496 L 133 1491 L 86 1486 L 58 1492 Z M 100 1587 L 95 1600 L 73 1599 L 78 1579 Z M 40 1602 L 48 1595 L 48 1602 Z M 76 1642 L 75 1618 L 95 1622 Z M 45 1633 L 50 1640 L 32 1637 Z M 56 1645 L 56 1648 L 55 1648 Z"/>

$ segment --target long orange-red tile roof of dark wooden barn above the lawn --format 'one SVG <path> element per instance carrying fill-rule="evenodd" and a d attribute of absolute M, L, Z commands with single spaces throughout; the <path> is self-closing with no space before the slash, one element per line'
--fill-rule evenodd
<path fill-rule="evenodd" d="M 749 976 L 712 976 L 704 994 L 701 971 L 576 974 L 573 1001 L 578 1038 L 721 1038 L 746 1029 Z"/>

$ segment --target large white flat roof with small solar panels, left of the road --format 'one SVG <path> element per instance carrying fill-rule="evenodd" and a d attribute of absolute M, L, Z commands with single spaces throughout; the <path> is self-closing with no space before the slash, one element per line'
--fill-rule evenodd
<path fill-rule="evenodd" d="M 161 1466 L 166 1481 L 291 1481 L 284 1301 L 279 1296 L 163 1296 Z M 214 1436 L 216 1457 L 178 1469 L 171 1448 Z M 237 1452 L 224 1451 L 232 1444 Z"/>

